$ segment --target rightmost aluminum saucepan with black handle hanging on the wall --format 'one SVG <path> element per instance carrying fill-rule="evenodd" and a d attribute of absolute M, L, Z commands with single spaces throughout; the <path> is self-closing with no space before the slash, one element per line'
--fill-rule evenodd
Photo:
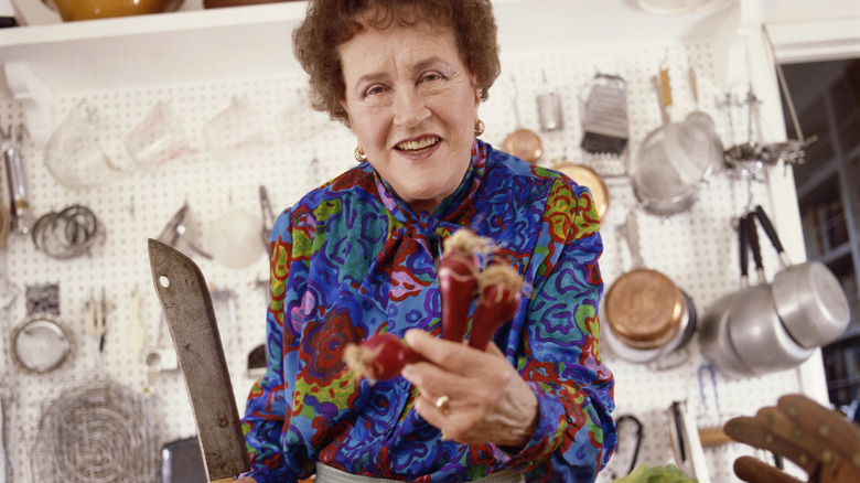
<path fill-rule="evenodd" d="M 788 333 L 804 347 L 825 345 L 851 321 L 848 297 L 836 276 L 820 261 L 792 265 L 761 206 L 755 216 L 780 255 L 783 268 L 771 282 L 776 312 Z"/>

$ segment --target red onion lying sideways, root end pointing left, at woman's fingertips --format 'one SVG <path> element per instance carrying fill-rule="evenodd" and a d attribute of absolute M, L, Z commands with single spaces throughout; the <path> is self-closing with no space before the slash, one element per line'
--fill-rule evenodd
<path fill-rule="evenodd" d="M 358 345 L 347 345 L 344 359 L 357 377 L 370 380 L 393 379 L 407 364 L 424 361 L 402 339 L 389 333 L 372 335 Z"/>

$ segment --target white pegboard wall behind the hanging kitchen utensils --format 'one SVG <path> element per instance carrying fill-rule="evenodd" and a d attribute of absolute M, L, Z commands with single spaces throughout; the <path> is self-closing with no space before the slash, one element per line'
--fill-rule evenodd
<path fill-rule="evenodd" d="M 504 137 L 517 126 L 514 105 L 509 97 L 512 75 L 516 79 L 520 125 L 538 131 L 535 95 L 542 86 L 542 74 L 561 94 L 565 129 L 540 133 L 544 157 L 539 164 L 551 167 L 567 158 L 584 162 L 579 150 L 581 119 L 579 97 L 584 85 L 596 73 L 623 77 L 627 84 L 630 116 L 630 142 L 627 157 L 635 157 L 643 139 L 660 126 L 656 94 L 651 78 L 659 65 L 666 62 L 673 78 L 675 120 L 692 110 L 687 68 L 689 61 L 699 72 L 699 108 L 714 118 L 721 137 L 728 139 L 728 121 L 718 107 L 723 93 L 713 83 L 713 54 L 707 42 L 689 44 L 641 44 L 625 49 L 608 47 L 566 52 L 548 52 L 528 57 L 504 57 L 503 74 L 491 89 L 491 98 L 480 108 L 486 124 L 482 137 L 498 147 Z M 94 247 L 88 257 L 73 260 L 54 260 L 39 253 L 33 244 L 21 236 L 10 238 L 8 267 L 10 280 L 22 290 L 28 285 L 60 283 L 63 318 L 74 329 L 76 352 L 74 359 L 60 371 L 46 375 L 21 374 L 10 364 L 9 348 L 4 345 L 3 371 L 17 384 L 17 408 L 20 418 L 13 421 L 14 431 L 22 434 L 13 448 L 15 461 L 23 461 L 31 448 L 32 434 L 39 423 L 40 408 L 56 395 L 60 382 L 85 371 L 98 369 L 142 390 L 148 384 L 147 367 L 139 354 L 130 354 L 125 342 L 125 331 L 130 316 L 129 300 L 132 292 L 140 296 L 140 318 L 146 326 L 147 343 L 154 345 L 161 326 L 160 307 L 151 286 L 146 240 L 155 237 L 168 219 L 187 203 L 201 238 L 221 214 L 230 208 L 243 208 L 259 214 L 258 186 L 267 187 L 276 212 L 294 203 L 309 189 L 354 165 L 352 150 L 355 140 L 343 126 L 323 126 L 324 115 L 308 114 L 302 107 L 304 77 L 281 76 L 207 83 L 164 85 L 159 87 L 129 88 L 116 92 L 73 93 L 58 98 L 58 118 L 86 99 L 93 103 L 105 120 L 103 142 L 108 155 L 121 167 L 133 167 L 122 144 L 123 137 L 141 121 L 159 103 L 165 103 L 184 128 L 189 153 L 155 169 L 120 175 L 109 184 L 85 190 L 69 190 L 46 170 L 43 153 L 32 143 L 22 149 L 26 164 L 31 202 L 36 214 L 79 203 L 89 206 L 103 222 L 107 237 L 105 244 Z M 236 99 L 246 99 L 257 110 L 260 122 L 267 128 L 269 146 L 248 150 L 229 162 L 216 159 L 206 146 L 203 126 Z M 322 117 L 321 117 L 322 116 Z M 22 118 L 20 106 L 2 103 L 2 121 L 18 122 Z M 284 121 L 286 119 L 286 121 Z M 318 160 L 319 174 L 314 174 L 311 161 Z M 311 179 L 319 176 L 318 179 Z M 6 183 L 3 183 L 4 185 Z M 606 287 L 626 270 L 630 257 L 620 244 L 619 225 L 631 208 L 636 206 L 628 180 L 608 180 L 611 205 L 604 221 L 602 235 L 605 255 L 601 268 Z M 767 210 L 776 210 L 767 197 L 764 183 L 753 183 L 753 197 Z M 720 296 L 738 287 L 737 236 L 731 221 L 748 202 L 746 187 L 725 173 L 717 173 L 701 191 L 699 200 L 689 212 L 670 218 L 636 212 L 643 258 L 647 266 L 664 271 L 694 300 L 698 311 L 705 311 Z M 765 264 L 775 269 L 775 257 L 765 248 Z M 235 334 L 236 340 L 226 345 L 230 372 L 239 409 L 251 380 L 246 377 L 246 357 L 250 350 L 264 340 L 265 292 L 259 281 L 268 277 L 262 257 L 251 267 L 235 270 L 213 260 L 195 258 L 207 280 L 215 289 L 229 289 L 235 293 L 236 326 L 228 326 L 219 313 L 222 331 Z M 90 293 L 99 296 L 105 289 L 111 303 L 110 329 L 100 366 L 95 366 L 94 345 L 85 335 L 80 321 L 84 304 Z M 23 301 L 4 314 L 4 331 L 9 331 L 24 316 Z M 170 346 L 169 334 L 162 342 Z M 696 341 L 690 345 L 689 359 L 675 368 L 655 372 L 646 366 L 628 364 L 606 352 L 604 357 L 616 376 L 615 397 L 617 414 L 633 414 L 645 425 L 639 462 L 660 465 L 674 462 L 671 444 L 667 437 L 667 409 L 673 400 L 684 399 L 692 411 L 700 410 L 697 368 L 702 363 Z M 785 372 L 765 377 L 734 379 L 717 375 L 722 415 L 753 414 L 757 408 L 771 405 L 781 394 L 799 390 L 796 372 Z M 160 400 L 162 419 L 158 421 L 164 441 L 190 436 L 194 432 L 191 409 L 185 396 L 181 374 L 164 372 L 154 378 L 155 396 Z M 698 414 L 698 412 L 694 412 Z M 721 415 L 717 416 L 719 420 Z M 739 446 L 717 447 L 707 450 L 713 481 L 734 481 L 731 462 Z M 626 466 L 624 459 L 620 463 Z M 13 461 L 14 464 L 14 461 Z M 612 466 L 616 473 L 617 469 Z M 15 465 L 15 474 L 24 477 L 25 469 Z M 601 475 L 608 481 L 609 472 Z"/>

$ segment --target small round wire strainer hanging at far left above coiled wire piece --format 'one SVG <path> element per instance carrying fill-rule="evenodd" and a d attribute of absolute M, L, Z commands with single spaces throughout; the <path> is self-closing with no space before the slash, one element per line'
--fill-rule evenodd
<path fill-rule="evenodd" d="M 73 343 L 66 325 L 49 314 L 24 319 L 12 334 L 12 357 L 31 373 L 50 373 L 68 359 Z"/>

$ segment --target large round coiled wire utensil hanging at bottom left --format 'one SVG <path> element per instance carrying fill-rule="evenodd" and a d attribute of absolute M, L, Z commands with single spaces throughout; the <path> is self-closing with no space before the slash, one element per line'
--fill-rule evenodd
<path fill-rule="evenodd" d="M 61 391 L 42 414 L 34 481 L 150 483 L 158 474 L 153 399 L 95 375 Z"/>

